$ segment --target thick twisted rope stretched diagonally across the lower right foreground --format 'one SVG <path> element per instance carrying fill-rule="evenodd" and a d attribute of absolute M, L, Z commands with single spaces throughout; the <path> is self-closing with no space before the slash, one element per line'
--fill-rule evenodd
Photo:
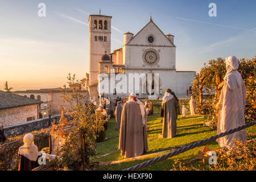
<path fill-rule="evenodd" d="M 237 132 L 237 131 L 246 129 L 247 127 L 253 126 L 253 125 L 255 125 L 255 124 L 256 124 L 255 121 L 254 121 L 254 122 L 250 122 L 250 123 L 247 123 L 246 125 L 243 125 L 243 126 L 240 126 L 240 127 L 236 127 L 235 129 L 226 131 L 226 132 L 224 132 L 224 133 L 220 133 L 220 134 L 215 135 L 215 136 L 212 136 L 212 137 L 210 137 L 210 138 L 208 138 L 208 139 L 199 140 L 199 141 L 197 141 L 196 143 L 192 143 L 192 144 L 190 144 L 189 146 L 185 146 L 185 147 L 179 148 L 178 150 L 175 150 L 175 151 L 173 151 L 173 152 L 170 152 L 169 154 L 165 154 L 165 155 L 159 156 L 158 158 L 148 160 L 148 161 L 143 162 L 143 163 L 141 163 L 141 164 L 137 164 L 136 166 L 123 169 L 123 171 L 135 171 L 135 170 L 141 169 L 141 168 L 143 168 L 143 167 L 150 166 L 151 164 L 155 164 L 155 163 L 160 162 L 160 161 L 162 161 L 162 160 L 164 160 L 164 159 L 171 158 L 172 156 L 181 154 L 181 153 L 183 153 L 183 152 L 185 152 L 185 151 L 191 150 L 192 148 L 196 148 L 197 146 L 200 146 L 201 144 L 205 144 L 205 143 L 208 143 L 208 142 L 212 142 L 213 140 L 216 140 L 216 139 L 221 138 L 221 137 L 224 137 L 224 136 L 226 136 L 226 135 L 229 135 L 229 134 L 235 133 L 235 132 Z"/>

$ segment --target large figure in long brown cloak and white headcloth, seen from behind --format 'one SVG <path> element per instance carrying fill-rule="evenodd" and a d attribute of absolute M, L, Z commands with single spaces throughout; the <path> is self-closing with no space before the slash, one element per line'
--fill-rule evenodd
<path fill-rule="evenodd" d="M 146 110 L 135 93 L 131 93 L 129 101 L 123 105 L 119 149 L 125 158 L 142 155 L 148 150 Z"/>

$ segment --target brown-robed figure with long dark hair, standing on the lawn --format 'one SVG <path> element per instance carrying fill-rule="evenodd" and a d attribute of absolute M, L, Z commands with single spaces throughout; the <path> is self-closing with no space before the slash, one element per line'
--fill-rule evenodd
<path fill-rule="evenodd" d="M 171 89 L 167 89 L 164 93 L 161 107 L 161 109 L 163 109 L 163 138 L 174 138 L 176 135 L 176 120 L 179 102 Z"/>

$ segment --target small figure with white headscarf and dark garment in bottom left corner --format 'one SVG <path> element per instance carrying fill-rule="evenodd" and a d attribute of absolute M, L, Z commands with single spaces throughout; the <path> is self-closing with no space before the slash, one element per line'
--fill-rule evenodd
<path fill-rule="evenodd" d="M 23 146 L 19 147 L 18 171 L 31 171 L 38 167 L 38 147 L 34 144 L 34 137 L 31 133 L 23 137 Z"/>

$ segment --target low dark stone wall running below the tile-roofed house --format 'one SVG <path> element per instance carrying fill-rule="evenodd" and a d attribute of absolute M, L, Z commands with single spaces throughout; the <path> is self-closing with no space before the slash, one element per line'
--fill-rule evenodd
<path fill-rule="evenodd" d="M 56 118 L 57 121 L 60 119 L 60 115 L 53 115 L 51 116 L 51 122 Z M 46 127 L 49 127 L 49 117 L 35 119 L 28 122 L 17 123 L 15 125 L 4 126 L 5 134 L 7 137 L 12 137 L 14 135 L 22 135 L 24 133 L 28 133 L 35 130 L 41 130 Z"/>

